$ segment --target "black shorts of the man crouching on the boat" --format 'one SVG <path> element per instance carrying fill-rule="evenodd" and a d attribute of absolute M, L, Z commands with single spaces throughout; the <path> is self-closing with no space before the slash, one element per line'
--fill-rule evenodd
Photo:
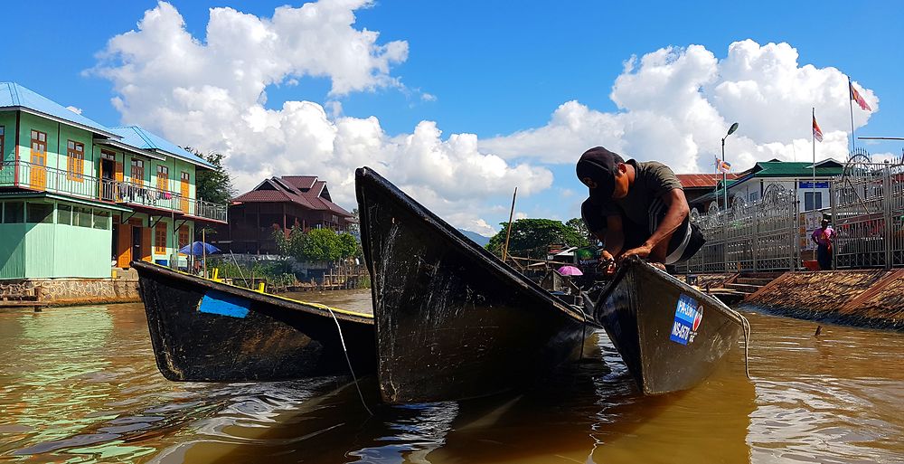
<path fill-rule="evenodd" d="M 644 244 L 646 239 L 649 239 L 656 228 L 659 227 L 659 223 L 662 223 L 668 209 L 668 204 L 656 198 L 653 204 L 650 205 L 650 211 L 647 215 L 649 223 L 646 225 L 634 223 L 622 214 L 622 229 L 625 232 L 623 250 L 630 250 Z M 606 218 L 602 216 L 600 211 L 600 208 L 596 207 L 590 199 L 581 205 L 581 217 L 591 232 L 600 232 L 606 229 Z M 703 233 L 700 232 L 697 224 L 691 223 L 691 216 L 688 215 L 684 218 L 681 226 L 672 234 L 672 240 L 669 241 L 664 264 L 675 264 L 690 260 L 697 251 L 700 251 L 704 243 L 706 243 L 706 239 L 703 237 Z"/>

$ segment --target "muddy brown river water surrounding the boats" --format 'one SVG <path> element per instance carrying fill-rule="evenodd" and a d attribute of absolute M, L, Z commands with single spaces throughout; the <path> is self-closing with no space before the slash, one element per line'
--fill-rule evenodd
<path fill-rule="evenodd" d="M 367 292 L 297 294 L 367 309 Z M 904 462 L 904 334 L 747 314 L 705 383 L 638 395 L 607 337 L 525 391 L 389 406 L 361 380 L 177 384 L 140 304 L 0 312 L 2 462 Z"/>

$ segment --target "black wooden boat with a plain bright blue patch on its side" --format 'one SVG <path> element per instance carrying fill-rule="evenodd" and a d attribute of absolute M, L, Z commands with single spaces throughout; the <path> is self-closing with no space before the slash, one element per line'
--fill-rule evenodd
<path fill-rule="evenodd" d="M 373 317 L 135 261 L 160 372 L 186 382 L 372 374 Z M 342 327 L 340 337 L 338 327 Z"/>

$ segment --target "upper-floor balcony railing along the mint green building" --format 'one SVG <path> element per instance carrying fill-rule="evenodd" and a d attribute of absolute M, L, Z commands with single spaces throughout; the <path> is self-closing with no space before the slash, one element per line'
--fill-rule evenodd
<path fill-rule="evenodd" d="M 226 222 L 225 204 L 195 200 L 178 192 L 92 175 L 75 175 L 25 161 L 4 161 L 0 167 L 0 187 L 23 187 L 108 203 L 146 206 Z"/>

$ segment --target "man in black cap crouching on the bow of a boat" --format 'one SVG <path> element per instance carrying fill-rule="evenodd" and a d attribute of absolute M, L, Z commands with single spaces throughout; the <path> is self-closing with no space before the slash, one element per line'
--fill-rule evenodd
<path fill-rule="evenodd" d="M 590 232 L 605 243 L 601 259 L 611 264 L 630 256 L 644 258 L 661 269 L 690 259 L 705 240 L 690 223 L 690 207 L 672 169 L 657 161 L 625 162 L 603 147 L 584 152 L 575 169 L 589 187 L 581 217 Z"/>

